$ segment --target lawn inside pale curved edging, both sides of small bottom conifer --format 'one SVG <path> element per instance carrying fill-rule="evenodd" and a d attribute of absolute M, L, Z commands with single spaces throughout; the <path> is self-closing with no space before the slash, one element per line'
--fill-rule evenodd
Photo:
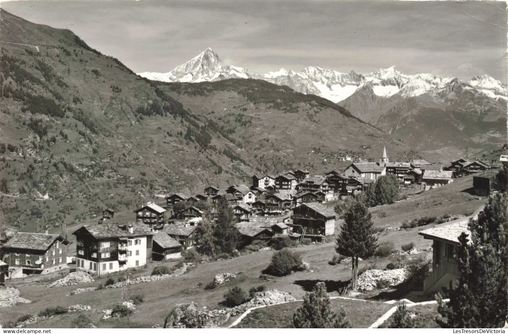
<path fill-rule="evenodd" d="M 367 328 L 393 307 L 382 302 L 342 298 L 330 303 L 333 310 L 344 308 L 353 328 Z M 301 305 L 301 301 L 296 301 L 253 310 L 235 328 L 294 328 L 293 314 Z"/>

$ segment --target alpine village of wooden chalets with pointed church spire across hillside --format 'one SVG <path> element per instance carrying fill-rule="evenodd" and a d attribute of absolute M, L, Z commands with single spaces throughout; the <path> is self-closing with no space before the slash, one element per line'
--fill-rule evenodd
<path fill-rule="evenodd" d="M 292 170 L 278 176 L 253 175 L 250 186 L 233 185 L 223 190 L 209 186 L 193 196 L 177 192 L 167 196 L 164 204 L 147 202 L 135 209 L 132 221 L 127 223 L 115 223 L 115 211 L 105 208 L 99 221 L 72 232 L 75 252 L 70 251 L 71 241 L 63 230 L 61 234 L 50 234 L 48 227 L 46 233 L 16 232 L 11 237 L 0 240 L 0 282 L 9 287 L 11 280 L 20 283 L 25 279 L 39 280 L 38 277 L 61 277 L 59 274 L 71 272 L 69 275 L 75 275 L 82 272 L 87 275 L 87 279 L 84 282 L 78 280 L 76 284 L 90 283 L 93 282 L 91 277 L 110 277 L 122 271 L 127 272 L 127 277 L 130 278 L 132 270 L 136 272 L 147 266 L 158 267 L 157 263 L 164 264 L 168 261 L 180 261 L 179 268 L 173 267 L 173 270 L 182 274 L 182 266 L 185 271 L 189 266 L 197 264 L 194 263 L 198 256 L 196 250 L 199 251 L 202 247 L 199 226 L 203 221 L 210 220 L 220 205 L 226 205 L 234 217 L 241 254 L 245 250 L 271 250 L 278 243 L 283 245 L 281 247 L 304 248 L 312 247 L 305 245 L 325 245 L 335 241 L 338 228 L 343 224 L 334 204 L 363 196 L 382 176 L 393 175 L 400 189 L 412 187 L 413 193 L 416 194 L 418 190 L 422 194 L 450 187 L 457 178 L 472 175 L 472 187 L 469 189 L 471 195 L 486 197 L 500 190 L 499 167 L 506 164 L 508 156 L 505 155 L 500 155 L 497 162 L 459 159 L 452 161 L 449 166 L 425 160 L 390 162 L 384 148 L 378 162 L 353 162 L 344 171 L 332 170 L 325 175 L 311 176 L 308 170 Z M 427 250 L 432 251 L 432 260 L 422 282 L 417 284 L 420 292 L 409 295 L 424 300 L 428 298 L 425 296 L 433 293 L 443 293 L 450 282 L 455 282 L 460 277 L 455 258 L 460 245 L 457 238 L 462 232 L 468 231 L 469 219 L 477 218 L 483 207 L 482 204 L 474 212 L 462 216 L 443 216 L 446 219 L 436 221 L 434 227 L 418 232 L 422 240 L 432 241 L 432 246 Z M 402 232 L 401 228 L 386 230 Z M 256 248 L 254 245 L 261 246 Z M 421 251 L 411 245 L 398 252 L 411 255 Z M 190 258 L 194 261 L 189 260 L 189 255 L 192 255 Z M 331 261 L 343 263 L 344 259 L 334 258 Z M 307 270 L 313 271 L 309 267 Z M 376 272 L 378 277 L 364 282 L 363 289 L 368 289 L 365 284 L 374 284 L 376 289 L 376 282 L 388 281 L 387 286 L 401 284 L 404 278 L 400 277 L 397 270 L 400 269 Z M 152 282 L 153 275 L 160 275 L 154 272 L 146 281 L 138 283 Z M 156 280 L 174 275 L 174 272 L 164 271 L 164 277 L 157 276 Z M 224 275 L 229 277 L 230 274 Z M 234 277 L 234 274 L 231 275 Z M 274 279 L 270 275 L 263 277 Z M 118 279 L 116 286 L 124 285 Z M 87 289 L 93 291 L 97 288 Z M 340 295 L 344 294 L 347 285 L 338 291 Z M 281 298 L 287 300 L 290 297 L 282 295 Z M 270 300 L 269 305 L 275 302 L 280 302 L 280 299 Z M 235 312 L 228 313 L 228 319 Z M 226 322 L 221 322 L 220 325 Z M 216 322 L 214 324 L 219 325 Z"/>

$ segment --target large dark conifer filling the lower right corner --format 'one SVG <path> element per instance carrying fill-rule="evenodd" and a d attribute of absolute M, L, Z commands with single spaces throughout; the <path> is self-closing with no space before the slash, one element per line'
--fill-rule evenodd
<path fill-rule="evenodd" d="M 508 310 L 508 197 L 489 197 L 478 220 L 470 220 L 469 237 L 459 236 L 461 277 L 450 283 L 448 304 L 438 295 L 441 327 L 492 328 L 504 325 Z"/>

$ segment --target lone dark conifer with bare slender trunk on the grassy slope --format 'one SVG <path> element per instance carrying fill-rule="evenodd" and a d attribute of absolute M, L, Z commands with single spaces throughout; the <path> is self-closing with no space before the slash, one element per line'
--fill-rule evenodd
<path fill-rule="evenodd" d="M 374 255 L 377 249 L 376 231 L 374 230 L 372 215 L 361 199 L 354 199 L 347 205 L 342 217 L 344 224 L 342 224 L 340 234 L 337 237 L 335 250 L 340 255 L 351 257 L 351 285 L 352 289 L 355 289 L 358 276 L 358 258 L 366 259 Z"/>

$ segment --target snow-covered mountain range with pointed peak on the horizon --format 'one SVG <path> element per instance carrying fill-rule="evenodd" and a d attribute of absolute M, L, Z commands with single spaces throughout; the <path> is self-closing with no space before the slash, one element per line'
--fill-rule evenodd
<path fill-rule="evenodd" d="M 407 75 L 401 73 L 395 66 L 368 74 L 357 74 L 354 71 L 340 73 L 310 66 L 300 72 L 282 68 L 260 75 L 241 67 L 224 65 L 211 48 L 170 72 L 143 72 L 138 75 L 165 82 L 202 82 L 229 78 L 263 79 L 275 84 L 287 85 L 300 93 L 321 96 L 335 103 L 345 100 L 362 89 L 371 89 L 373 95 L 380 98 L 390 98 L 394 95 L 409 98 L 425 93 L 436 93 L 455 79 L 427 73 Z M 508 100 L 506 85 L 491 76 L 477 76 L 466 84 L 492 99 Z"/>

